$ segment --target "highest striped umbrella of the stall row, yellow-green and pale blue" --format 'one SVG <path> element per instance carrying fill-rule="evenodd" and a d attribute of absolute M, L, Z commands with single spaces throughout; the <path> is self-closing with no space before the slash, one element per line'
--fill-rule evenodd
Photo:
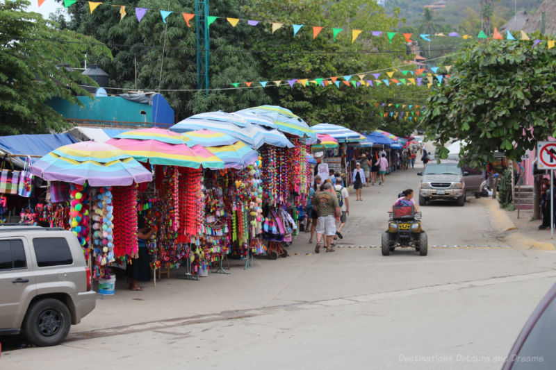
<path fill-rule="evenodd" d="M 254 112 L 263 117 L 272 119 L 277 130 L 299 137 L 315 137 L 309 125 L 291 110 L 279 106 L 259 106 L 247 108 L 239 112 Z"/>

